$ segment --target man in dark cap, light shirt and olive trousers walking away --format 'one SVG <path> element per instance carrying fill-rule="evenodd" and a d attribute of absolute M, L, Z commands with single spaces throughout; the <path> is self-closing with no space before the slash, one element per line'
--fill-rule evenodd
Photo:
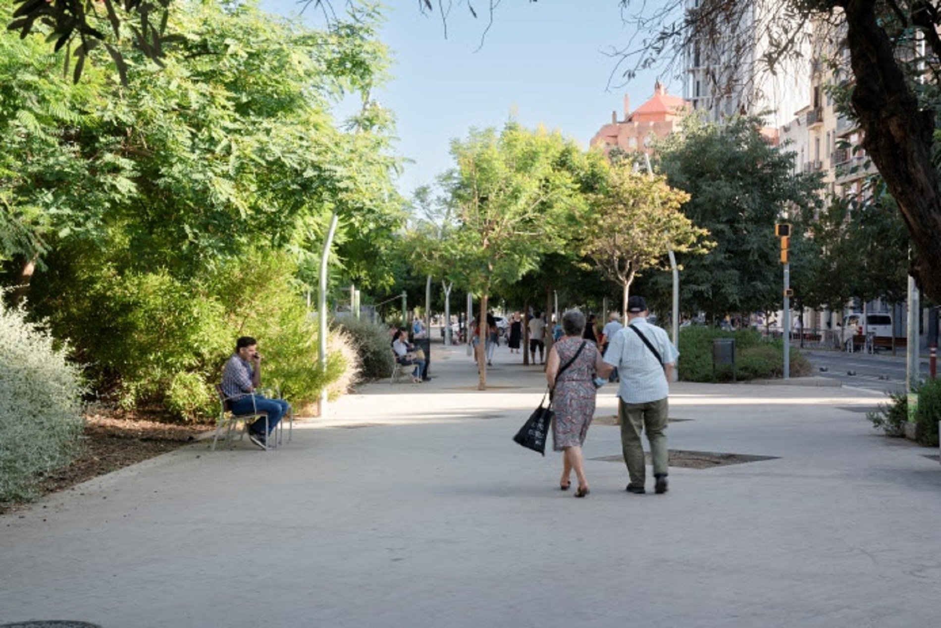
<path fill-rule="evenodd" d="M 621 449 L 628 465 L 627 491 L 644 493 L 646 465 L 641 433 L 646 430 L 653 458 L 654 491 L 667 491 L 669 454 L 666 444 L 669 381 L 679 352 L 666 331 L 646 322 L 643 297 L 628 299 L 628 325 L 614 334 L 604 362 L 616 367 L 621 378 L 617 413 L 621 420 Z"/>

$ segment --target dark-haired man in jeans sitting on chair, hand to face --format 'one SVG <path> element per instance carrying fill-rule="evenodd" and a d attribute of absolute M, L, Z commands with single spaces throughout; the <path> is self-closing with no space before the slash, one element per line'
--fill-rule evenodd
<path fill-rule="evenodd" d="M 234 414 L 267 412 L 267 433 L 264 431 L 264 418 L 248 427 L 251 442 L 266 449 L 268 436 L 291 406 L 283 399 L 268 399 L 256 393 L 261 385 L 262 356 L 258 353 L 258 341 L 251 336 L 242 336 L 235 341 L 235 353 L 222 370 L 222 394 L 226 395 Z"/>

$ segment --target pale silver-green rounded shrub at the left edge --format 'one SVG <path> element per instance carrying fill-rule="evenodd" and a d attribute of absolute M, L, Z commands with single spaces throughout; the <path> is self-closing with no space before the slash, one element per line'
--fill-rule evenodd
<path fill-rule="evenodd" d="M 24 501 L 79 451 L 84 387 L 66 349 L 2 301 L 0 363 L 0 502 Z"/>

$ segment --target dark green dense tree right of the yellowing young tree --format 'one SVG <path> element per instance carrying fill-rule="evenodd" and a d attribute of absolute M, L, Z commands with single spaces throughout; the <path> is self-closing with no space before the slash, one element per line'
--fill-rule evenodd
<path fill-rule="evenodd" d="M 774 223 L 818 202 L 819 177 L 793 174 L 791 153 L 771 146 L 756 119 L 719 126 L 691 116 L 683 129 L 663 143 L 660 166 L 690 195 L 683 213 L 716 243 L 708 255 L 678 256 L 684 309 L 710 317 L 772 309 L 781 295 Z"/>

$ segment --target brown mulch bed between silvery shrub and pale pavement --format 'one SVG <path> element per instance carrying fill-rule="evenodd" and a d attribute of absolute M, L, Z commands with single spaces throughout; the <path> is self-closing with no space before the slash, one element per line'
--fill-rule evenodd
<path fill-rule="evenodd" d="M 85 453 L 40 483 L 40 494 L 63 491 L 99 475 L 151 459 L 191 443 L 200 433 L 213 429 L 204 425 L 179 425 L 119 411 L 100 411 L 86 416 L 83 434 Z M 18 505 L 0 503 L 0 513 Z"/>

